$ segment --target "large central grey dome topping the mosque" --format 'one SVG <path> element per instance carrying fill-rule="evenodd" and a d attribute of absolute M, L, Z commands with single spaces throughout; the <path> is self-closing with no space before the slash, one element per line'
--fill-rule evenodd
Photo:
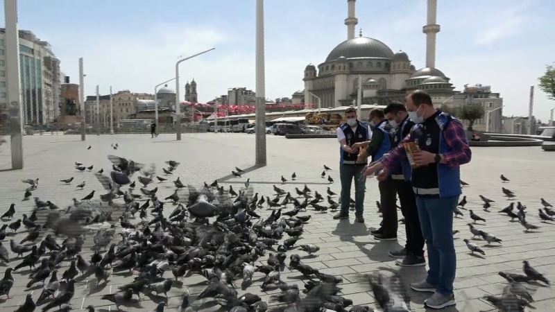
<path fill-rule="evenodd" d="M 337 45 L 329 55 L 326 62 L 337 60 L 340 56 L 345 58 L 393 58 L 393 51 L 384 42 L 369 37 L 357 37 L 345 40 Z M 408 58 L 408 57 L 407 57 Z"/>

